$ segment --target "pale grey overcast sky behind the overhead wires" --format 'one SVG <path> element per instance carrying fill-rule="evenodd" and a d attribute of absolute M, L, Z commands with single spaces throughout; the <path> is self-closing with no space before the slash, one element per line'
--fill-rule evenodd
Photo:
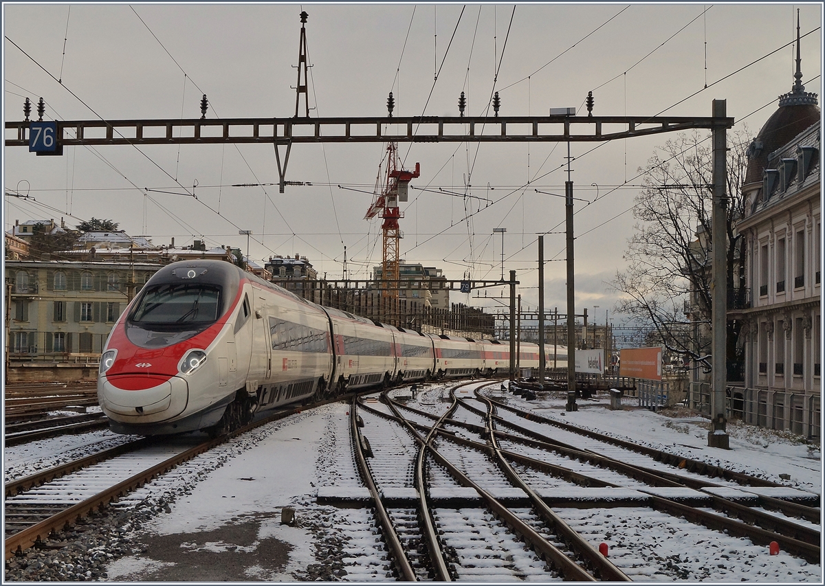
<path fill-rule="evenodd" d="M 797 8 L 803 34 L 821 27 L 820 4 L 791 3 L 516 4 L 514 12 L 493 3 L 7 2 L 3 115 L 22 120 L 26 96 L 42 96 L 45 120 L 196 118 L 205 93 L 210 119 L 290 117 L 303 9 L 313 116 L 383 116 L 389 91 L 396 116 L 458 115 L 461 91 L 467 114 L 481 115 L 493 90 L 501 115 L 546 115 L 561 106 L 586 114 L 593 91 L 594 115 L 709 116 L 711 102 L 724 99 L 735 128 L 747 124 L 756 136 L 794 82 L 795 43 L 775 51 L 795 40 Z M 821 94 L 822 29 L 801 45 L 803 83 Z M 632 207 L 639 166 L 667 138 L 605 143 L 588 154 L 592 143 L 572 145 L 573 157 L 582 155 L 573 163 L 575 195 L 602 196 L 586 209 L 577 202 L 576 306 L 591 315 L 598 306 L 601 323 L 616 298 L 605 282 L 623 268 L 634 227 L 631 212 L 606 221 Z M 564 219 L 563 199 L 535 190 L 563 193 L 566 144 L 402 143 L 399 152 L 405 166 L 421 163 L 413 187 L 459 194 L 411 191 L 403 258 L 440 267 L 450 279 L 465 271 L 497 279 L 502 237 L 493 238 L 493 228 L 506 227 L 505 274 L 518 271 L 524 303 L 535 307 L 536 235 L 563 232 Z M 243 250 L 238 230 L 252 230 L 253 259 L 297 253 L 320 274 L 341 278 L 347 246 L 351 277 L 363 279 L 381 262 L 380 219 L 363 218 L 383 155 L 378 143 L 297 144 L 286 179 L 314 185 L 281 194 L 277 185 L 231 186 L 277 183 L 271 144 L 81 147 L 63 157 L 5 148 L 6 192 L 34 198 L 7 196 L 5 227 L 16 219 L 65 218 L 73 227 L 108 218 L 157 245 L 203 239 Z M 197 200 L 161 193 L 191 193 L 196 184 Z M 545 258 L 554 260 L 545 270 L 546 305 L 563 312 L 563 233 L 544 242 Z M 455 293 L 451 301 L 495 304 L 472 297 Z"/>

